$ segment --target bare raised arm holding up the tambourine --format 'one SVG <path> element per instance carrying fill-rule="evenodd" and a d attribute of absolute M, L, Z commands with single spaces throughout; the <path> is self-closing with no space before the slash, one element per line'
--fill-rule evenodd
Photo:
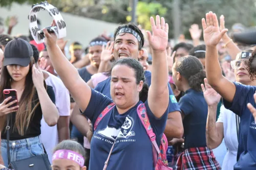
<path fill-rule="evenodd" d="M 55 26 L 55 22 L 52 26 Z M 59 75 L 64 85 L 70 91 L 75 102 L 84 111 L 91 99 L 91 88 L 84 82 L 78 74 L 77 69 L 63 55 L 57 45 L 57 37 L 54 34 L 49 34 L 46 29 L 43 29 L 45 34 L 45 43 L 47 51 L 54 69 Z"/>

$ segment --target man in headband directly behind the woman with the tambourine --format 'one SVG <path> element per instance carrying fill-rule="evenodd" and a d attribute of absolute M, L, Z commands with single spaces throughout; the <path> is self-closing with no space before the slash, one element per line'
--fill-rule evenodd
<path fill-rule="evenodd" d="M 140 58 L 143 55 L 142 47 L 144 45 L 144 37 L 140 29 L 133 23 L 119 26 L 114 34 L 113 55 L 115 60 L 124 57 L 132 57 L 134 59 Z M 151 85 L 151 72 L 145 70 L 144 72 L 146 83 Z M 167 78 L 166 78 L 167 79 Z M 100 82 L 95 90 L 111 98 L 110 95 L 111 78 Z M 172 98 L 174 93 L 169 87 L 169 96 Z M 167 139 L 181 138 L 183 135 L 183 125 L 180 114 L 180 108 L 176 101 L 169 100 L 169 114 L 164 131 Z"/>

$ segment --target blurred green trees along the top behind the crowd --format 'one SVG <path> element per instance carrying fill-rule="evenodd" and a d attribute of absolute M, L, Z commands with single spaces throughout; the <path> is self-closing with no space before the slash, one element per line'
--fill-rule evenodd
<path fill-rule="evenodd" d="M 164 16 L 169 24 L 169 37 L 173 36 L 173 1 L 174 0 L 139 0 L 137 21 L 144 29 L 150 30 L 150 16 Z M 226 28 L 240 22 L 246 27 L 256 25 L 256 0 L 180 0 L 180 34 L 190 38 L 188 29 L 193 23 L 201 27 L 201 19 L 206 12 L 213 11 L 225 16 Z M 9 7 L 13 2 L 23 4 L 40 3 L 37 0 L 0 0 L 0 6 Z M 104 20 L 125 23 L 131 20 L 132 0 L 49 0 L 60 11 Z"/>

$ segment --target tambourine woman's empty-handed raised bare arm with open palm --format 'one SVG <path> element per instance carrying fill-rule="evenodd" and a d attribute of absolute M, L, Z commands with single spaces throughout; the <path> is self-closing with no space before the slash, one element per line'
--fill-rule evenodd
<path fill-rule="evenodd" d="M 156 16 L 156 24 L 153 17 L 150 18 L 153 35 L 147 31 L 148 41 L 152 48 L 152 79 L 148 90 L 148 106 L 154 115 L 160 118 L 169 103 L 168 90 L 168 66 L 166 46 L 168 43 L 168 24 L 164 18 Z"/>

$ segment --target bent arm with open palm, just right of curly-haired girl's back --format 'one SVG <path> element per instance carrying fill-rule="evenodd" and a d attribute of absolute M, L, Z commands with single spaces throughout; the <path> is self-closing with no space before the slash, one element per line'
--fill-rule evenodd
<path fill-rule="evenodd" d="M 206 143 L 209 149 L 215 149 L 221 144 L 224 138 L 223 123 L 216 123 L 217 107 L 221 95 L 211 88 L 207 83 L 207 79 L 204 79 L 204 84 L 201 84 L 201 87 L 204 92 L 204 99 L 208 105 Z"/>

